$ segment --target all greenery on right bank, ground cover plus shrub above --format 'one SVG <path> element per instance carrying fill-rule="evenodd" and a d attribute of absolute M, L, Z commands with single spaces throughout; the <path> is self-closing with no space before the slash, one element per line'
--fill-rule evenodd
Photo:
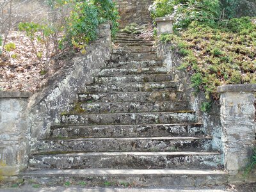
<path fill-rule="evenodd" d="M 171 49 L 182 56 L 179 69 L 188 71 L 195 92 L 203 90 L 209 100 L 219 99 L 216 90 L 222 84 L 256 83 L 255 20 L 229 19 L 226 14 L 236 16 L 240 8 L 231 9 L 230 2 L 156 0 L 150 9 L 153 17 L 173 15 L 177 20 L 175 33 L 161 40 L 172 43 Z"/>

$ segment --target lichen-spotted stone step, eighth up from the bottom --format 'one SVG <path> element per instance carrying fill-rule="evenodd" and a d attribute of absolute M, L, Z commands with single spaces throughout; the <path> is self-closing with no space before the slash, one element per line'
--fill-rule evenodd
<path fill-rule="evenodd" d="M 148 82 L 148 83 L 115 83 L 115 84 L 90 84 L 86 85 L 85 92 L 156 92 L 177 90 L 174 81 Z"/>

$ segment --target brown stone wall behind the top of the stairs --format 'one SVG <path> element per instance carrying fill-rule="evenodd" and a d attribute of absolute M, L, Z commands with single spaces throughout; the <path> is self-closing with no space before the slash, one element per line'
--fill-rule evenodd
<path fill-rule="evenodd" d="M 137 24 L 148 24 L 152 22 L 148 12 L 152 0 L 114 0 L 120 13 L 120 28 L 127 24 L 136 22 Z"/>

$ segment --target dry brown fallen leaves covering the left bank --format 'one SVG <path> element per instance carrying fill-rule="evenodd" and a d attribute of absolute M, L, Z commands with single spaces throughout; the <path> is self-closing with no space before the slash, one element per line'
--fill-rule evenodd
<path fill-rule="evenodd" d="M 46 66 L 46 58 L 42 62 L 36 58 L 29 38 L 20 31 L 12 31 L 7 43 L 13 42 L 15 49 L 0 56 L 0 90 L 19 90 L 36 92 L 58 70 L 60 63 L 51 61 Z M 36 44 L 38 52 L 45 52 L 44 45 Z M 44 54 L 43 54 L 44 55 Z M 42 70 L 47 68 L 46 73 Z"/>

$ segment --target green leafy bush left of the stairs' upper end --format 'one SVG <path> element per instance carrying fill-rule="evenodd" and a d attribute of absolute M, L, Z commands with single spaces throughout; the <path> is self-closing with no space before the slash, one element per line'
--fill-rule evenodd
<path fill-rule="evenodd" d="M 63 50 L 74 49 L 86 52 L 86 46 L 90 41 L 97 39 L 97 28 L 100 23 L 110 20 L 112 22 L 112 35 L 118 29 L 118 11 L 115 3 L 111 0 L 49 0 L 47 1 L 54 12 L 61 12 L 64 8 L 69 9 L 68 15 L 63 15 L 61 22 L 44 24 L 33 22 L 20 23 L 20 31 L 25 31 L 29 37 L 33 52 L 41 61 L 42 52 L 36 50 L 36 44 L 44 44 L 45 56 L 49 61 L 52 55 Z M 50 45 L 54 45 L 54 49 Z"/>

